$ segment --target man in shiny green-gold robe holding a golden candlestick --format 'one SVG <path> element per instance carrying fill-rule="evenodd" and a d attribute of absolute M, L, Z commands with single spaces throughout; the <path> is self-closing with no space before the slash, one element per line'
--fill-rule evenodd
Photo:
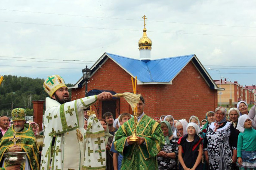
<path fill-rule="evenodd" d="M 157 153 L 164 145 L 160 124 L 144 113 L 145 101 L 141 96 L 136 126 L 139 142 L 130 141 L 135 123 L 134 118 L 125 122 L 115 134 L 115 149 L 123 154 L 121 170 L 158 170 Z"/>

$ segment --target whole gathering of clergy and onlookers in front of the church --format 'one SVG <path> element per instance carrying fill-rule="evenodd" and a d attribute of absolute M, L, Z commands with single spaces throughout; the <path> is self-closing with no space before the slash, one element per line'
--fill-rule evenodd
<path fill-rule="evenodd" d="M 110 92 L 70 101 L 64 80 L 53 75 L 43 85 L 46 98 L 43 130 L 25 120 L 26 110 L 0 116 L 0 167 L 6 170 L 255 170 L 256 106 L 245 101 L 228 111 L 217 107 L 205 119 L 150 117 L 145 99 L 138 116 L 111 112 L 102 119 L 89 106 L 109 100 Z M 11 124 L 11 121 L 13 122 Z M 5 162 L 6 152 L 27 152 L 20 165 Z"/>

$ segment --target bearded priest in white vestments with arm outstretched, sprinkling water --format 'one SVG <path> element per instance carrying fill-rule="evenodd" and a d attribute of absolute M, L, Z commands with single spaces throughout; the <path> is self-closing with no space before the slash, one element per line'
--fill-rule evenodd
<path fill-rule="evenodd" d="M 86 142 L 83 109 L 98 99 L 111 99 L 112 94 L 102 92 L 99 95 L 70 101 L 68 87 L 59 75 L 49 76 L 44 81 L 43 88 L 50 98 L 46 98 L 46 111 L 43 119 L 45 139 L 41 170 L 82 170 Z M 98 144 L 96 145 L 98 147 Z M 90 155 L 91 149 L 89 150 L 86 155 Z M 94 167 L 94 169 L 100 168 Z"/>

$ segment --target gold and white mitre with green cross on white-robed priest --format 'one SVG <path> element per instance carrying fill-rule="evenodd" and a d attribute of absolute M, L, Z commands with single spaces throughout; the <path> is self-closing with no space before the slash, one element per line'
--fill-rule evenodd
<path fill-rule="evenodd" d="M 43 89 L 47 94 L 52 97 L 52 95 L 62 87 L 67 87 L 64 79 L 59 75 L 48 76 L 48 78 L 43 83 Z M 68 87 L 67 87 L 68 88 Z"/>

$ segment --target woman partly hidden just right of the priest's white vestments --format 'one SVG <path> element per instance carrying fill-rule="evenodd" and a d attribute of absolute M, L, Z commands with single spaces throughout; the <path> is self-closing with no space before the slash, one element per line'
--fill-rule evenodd
<path fill-rule="evenodd" d="M 104 140 L 105 140 L 105 145 L 106 145 L 106 170 L 113 170 L 113 153 L 110 151 L 111 149 L 111 144 L 113 141 L 114 136 L 112 134 L 109 133 L 108 130 L 108 124 L 106 122 L 105 119 L 99 119 L 100 123 L 102 124 L 102 127 L 104 128 L 105 131 L 105 136 L 104 136 Z"/>

